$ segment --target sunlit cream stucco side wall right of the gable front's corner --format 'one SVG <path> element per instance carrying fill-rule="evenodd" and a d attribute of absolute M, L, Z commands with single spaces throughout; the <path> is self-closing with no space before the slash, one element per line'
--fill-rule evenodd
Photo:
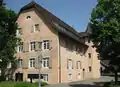
<path fill-rule="evenodd" d="M 70 39 L 69 39 L 70 40 Z M 71 81 L 78 81 L 78 80 L 86 80 L 86 79 L 95 79 L 100 77 L 99 67 L 100 61 L 97 58 L 97 53 L 95 48 L 92 48 L 91 45 L 88 45 L 87 50 L 85 51 L 84 55 L 80 55 L 76 53 L 76 50 L 70 51 L 67 49 L 64 37 L 60 38 L 60 58 L 61 58 L 61 80 L 62 82 L 71 82 Z M 74 41 L 70 40 L 71 43 Z M 71 43 L 68 44 L 71 44 Z M 72 44 L 72 46 L 76 45 L 76 43 Z M 71 46 L 71 47 L 72 47 Z M 84 48 L 83 45 L 79 46 Z M 91 53 L 91 58 L 88 57 L 88 53 Z M 67 60 L 73 60 L 73 69 L 67 69 Z M 81 62 L 81 69 L 76 69 L 76 62 Z M 89 66 L 91 66 L 92 71 L 89 72 Z M 83 71 L 85 69 L 85 71 Z M 72 74 L 72 80 L 69 80 L 68 74 Z"/>

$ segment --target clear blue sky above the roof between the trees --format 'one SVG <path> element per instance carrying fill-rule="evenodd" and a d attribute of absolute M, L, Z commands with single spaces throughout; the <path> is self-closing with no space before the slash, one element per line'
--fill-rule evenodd
<path fill-rule="evenodd" d="M 15 12 L 33 0 L 4 0 L 7 7 Z M 87 28 L 92 9 L 97 0 L 34 0 L 78 32 Z"/>

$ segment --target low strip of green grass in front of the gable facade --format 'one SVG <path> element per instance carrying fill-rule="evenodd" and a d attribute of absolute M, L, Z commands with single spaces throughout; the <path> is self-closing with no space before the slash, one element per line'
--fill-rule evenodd
<path fill-rule="evenodd" d="M 47 83 L 42 82 L 42 87 L 47 85 Z M 28 83 L 28 82 L 1 82 L 0 87 L 38 87 L 38 83 Z"/>

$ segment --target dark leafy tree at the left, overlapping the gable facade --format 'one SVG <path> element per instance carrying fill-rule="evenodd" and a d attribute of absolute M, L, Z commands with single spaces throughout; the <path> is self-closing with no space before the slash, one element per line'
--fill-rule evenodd
<path fill-rule="evenodd" d="M 1 2 L 1 1 L 0 1 Z M 12 74 L 11 70 L 16 67 L 15 63 L 15 47 L 17 46 L 18 38 L 16 37 L 17 15 L 12 10 L 0 4 L 0 68 L 1 80 L 5 80 L 8 74 Z M 8 69 L 8 64 L 11 63 L 12 68 Z M 10 71 L 10 73 L 8 73 Z"/>

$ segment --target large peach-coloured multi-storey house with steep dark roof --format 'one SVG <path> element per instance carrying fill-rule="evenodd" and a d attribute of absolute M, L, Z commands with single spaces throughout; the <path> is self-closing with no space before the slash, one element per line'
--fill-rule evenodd
<path fill-rule="evenodd" d="M 15 80 L 37 81 L 39 63 L 41 78 L 49 84 L 100 77 L 96 52 L 77 31 L 34 1 L 21 8 L 17 23 L 21 43 Z"/>

